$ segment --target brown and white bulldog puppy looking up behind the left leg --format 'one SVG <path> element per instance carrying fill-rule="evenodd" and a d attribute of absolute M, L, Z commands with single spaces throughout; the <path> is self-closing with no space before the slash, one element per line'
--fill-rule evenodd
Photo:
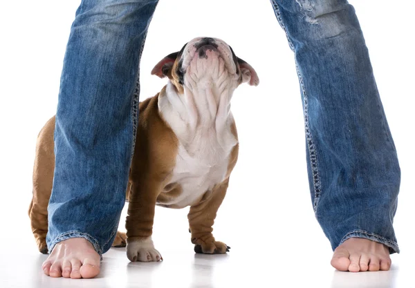
<path fill-rule="evenodd" d="M 113 246 L 127 242 L 131 261 L 159 261 L 151 239 L 156 205 L 190 206 L 187 216 L 196 253 L 226 253 L 212 225 L 238 156 L 237 128 L 230 99 L 239 84 L 259 79 L 221 39 L 199 37 L 162 59 L 151 71 L 167 77 L 156 96 L 139 104 L 136 144 L 127 200 L 127 240 L 118 233 Z M 52 189 L 55 118 L 39 134 L 29 215 L 39 251 L 47 252 L 47 205 Z"/>

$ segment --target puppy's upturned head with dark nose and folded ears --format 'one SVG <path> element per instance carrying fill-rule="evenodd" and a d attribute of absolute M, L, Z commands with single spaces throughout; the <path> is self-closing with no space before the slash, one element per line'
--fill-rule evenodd
<path fill-rule="evenodd" d="M 236 88 L 243 82 L 259 84 L 252 66 L 237 57 L 225 41 L 210 37 L 195 38 L 180 51 L 167 55 L 151 74 L 168 77 L 178 93 L 184 93 L 185 88 Z"/>

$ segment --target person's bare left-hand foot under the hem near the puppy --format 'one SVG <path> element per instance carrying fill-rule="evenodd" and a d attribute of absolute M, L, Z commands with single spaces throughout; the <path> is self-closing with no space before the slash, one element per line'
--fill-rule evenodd
<path fill-rule="evenodd" d="M 94 278 L 100 273 L 100 256 L 88 240 L 70 238 L 55 245 L 42 270 L 50 277 Z"/>

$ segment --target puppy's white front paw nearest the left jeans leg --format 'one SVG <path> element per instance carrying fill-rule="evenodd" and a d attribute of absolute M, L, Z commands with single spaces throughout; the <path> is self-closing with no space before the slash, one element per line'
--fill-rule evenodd
<path fill-rule="evenodd" d="M 163 260 L 160 252 L 154 248 L 151 237 L 133 242 L 128 242 L 127 240 L 127 257 L 132 262 L 157 262 Z"/>

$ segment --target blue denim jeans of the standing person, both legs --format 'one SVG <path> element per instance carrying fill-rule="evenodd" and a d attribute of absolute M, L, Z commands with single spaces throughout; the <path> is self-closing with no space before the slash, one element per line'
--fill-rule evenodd
<path fill-rule="evenodd" d="M 49 251 L 74 237 L 100 254 L 111 247 L 136 134 L 138 64 L 157 2 L 83 0 L 77 10 L 57 108 Z M 318 222 L 333 249 L 358 237 L 398 252 L 400 168 L 353 7 L 271 3 L 295 52 Z"/>

